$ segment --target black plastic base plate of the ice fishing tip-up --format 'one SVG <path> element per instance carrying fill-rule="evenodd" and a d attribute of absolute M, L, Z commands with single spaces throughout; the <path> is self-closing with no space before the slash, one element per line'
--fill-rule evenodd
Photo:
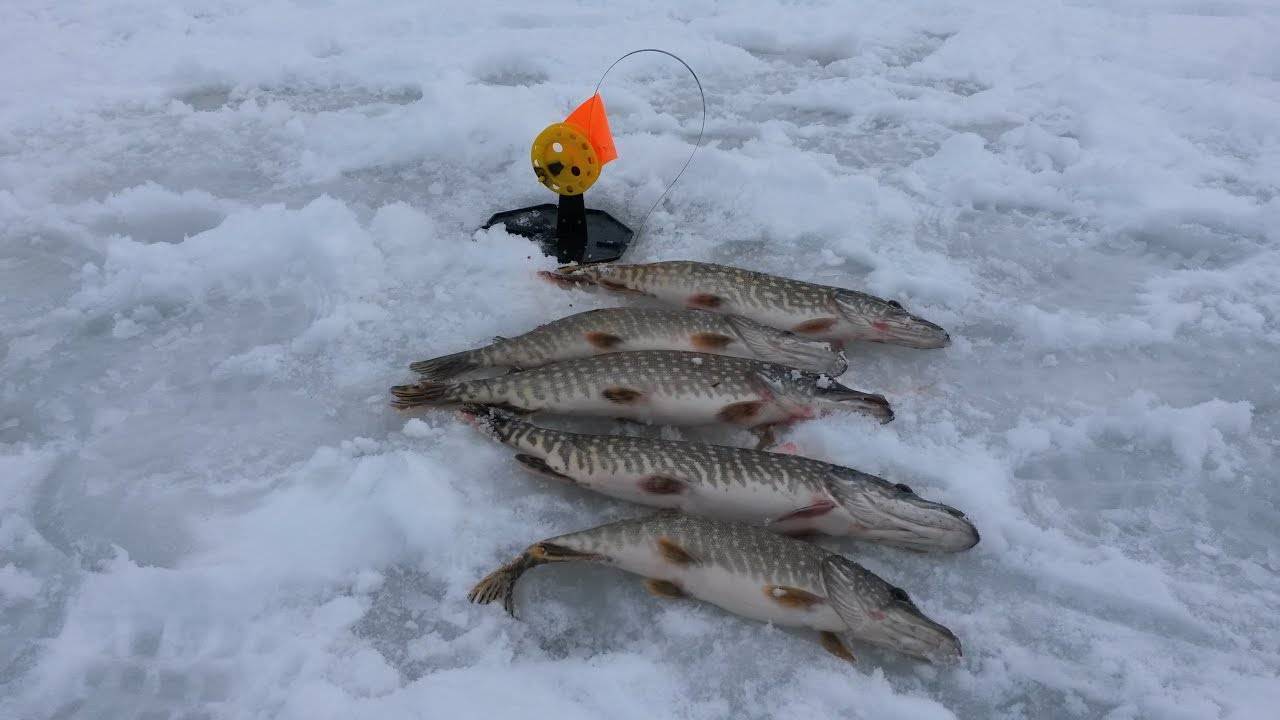
<path fill-rule="evenodd" d="M 538 242 L 544 254 L 553 255 L 561 263 L 612 263 L 622 256 L 635 234 L 604 210 L 588 209 L 584 246 L 581 238 L 575 237 L 577 233 L 557 234 L 558 219 L 559 208 L 544 202 L 494 213 L 484 227 L 506 225 L 507 232 Z"/>

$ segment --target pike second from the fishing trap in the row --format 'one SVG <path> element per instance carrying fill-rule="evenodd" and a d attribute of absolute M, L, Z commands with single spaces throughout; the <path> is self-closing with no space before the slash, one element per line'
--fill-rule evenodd
<path fill-rule="evenodd" d="M 847 368 L 831 345 L 704 310 L 609 307 L 590 310 L 492 345 L 413 363 L 428 380 L 444 380 L 481 368 L 538 368 L 558 360 L 631 350 L 689 350 L 750 357 L 840 375 Z"/>

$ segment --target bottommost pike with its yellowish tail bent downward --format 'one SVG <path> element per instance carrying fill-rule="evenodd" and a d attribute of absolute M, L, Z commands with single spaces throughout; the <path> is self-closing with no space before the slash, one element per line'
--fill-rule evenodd
<path fill-rule="evenodd" d="M 818 630 L 845 660 L 846 639 L 948 661 L 960 641 L 931 620 L 901 588 L 861 565 L 754 525 L 664 511 L 548 538 L 480 580 L 472 602 L 515 610 L 516 582 L 538 565 L 590 561 L 646 578 L 660 597 L 694 597 L 730 612 Z"/>

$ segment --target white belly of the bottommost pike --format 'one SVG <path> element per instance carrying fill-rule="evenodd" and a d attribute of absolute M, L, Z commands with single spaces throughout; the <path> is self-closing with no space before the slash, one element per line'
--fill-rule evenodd
<path fill-rule="evenodd" d="M 678 585 L 685 594 L 723 607 L 742 618 L 815 630 L 841 632 L 847 629 L 844 620 L 827 602 L 819 602 L 812 607 L 790 607 L 767 592 L 769 583 L 765 580 L 712 564 L 677 565 L 663 557 L 657 547 L 649 546 L 649 543 L 613 550 L 609 556 L 614 565 L 628 573 L 668 580 Z"/>

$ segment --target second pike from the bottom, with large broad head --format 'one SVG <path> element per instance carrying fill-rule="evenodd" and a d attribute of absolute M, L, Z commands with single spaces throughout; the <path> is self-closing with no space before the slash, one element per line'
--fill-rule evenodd
<path fill-rule="evenodd" d="M 916 551 L 978 543 L 964 512 L 850 468 L 703 442 L 553 430 L 497 407 L 468 405 L 463 414 L 518 450 L 525 468 L 620 500 Z"/>

